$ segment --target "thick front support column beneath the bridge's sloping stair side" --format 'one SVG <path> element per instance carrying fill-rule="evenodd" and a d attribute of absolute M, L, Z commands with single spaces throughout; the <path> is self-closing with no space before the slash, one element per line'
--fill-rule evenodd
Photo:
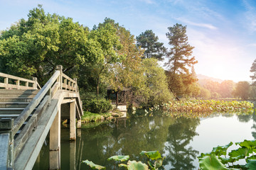
<path fill-rule="evenodd" d="M 50 169 L 60 169 L 60 108 L 50 127 Z"/>

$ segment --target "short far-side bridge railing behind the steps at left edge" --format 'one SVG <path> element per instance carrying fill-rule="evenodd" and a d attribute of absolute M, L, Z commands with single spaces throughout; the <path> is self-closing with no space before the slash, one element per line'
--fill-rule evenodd
<path fill-rule="evenodd" d="M 0 87 L 5 89 L 41 89 L 36 77 L 30 80 L 4 73 L 0 73 L 0 77 L 4 79 L 4 82 L 0 82 Z"/>

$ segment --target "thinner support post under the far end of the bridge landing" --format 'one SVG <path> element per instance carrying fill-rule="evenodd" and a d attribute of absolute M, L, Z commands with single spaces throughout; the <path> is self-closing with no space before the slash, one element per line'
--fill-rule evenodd
<path fill-rule="evenodd" d="M 75 102 L 70 103 L 70 140 L 75 140 Z"/>

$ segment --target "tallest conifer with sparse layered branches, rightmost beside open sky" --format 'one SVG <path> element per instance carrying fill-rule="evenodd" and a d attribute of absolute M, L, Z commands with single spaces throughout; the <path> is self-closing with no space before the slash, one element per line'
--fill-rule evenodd
<path fill-rule="evenodd" d="M 168 69 L 166 73 L 169 78 L 169 88 L 177 96 L 183 96 L 186 87 L 197 81 L 188 69 L 197 63 L 195 57 L 191 57 L 194 47 L 188 44 L 186 26 L 177 23 L 168 29 L 166 36 L 171 48 L 167 52 L 169 61 L 165 63 L 165 66 Z"/>

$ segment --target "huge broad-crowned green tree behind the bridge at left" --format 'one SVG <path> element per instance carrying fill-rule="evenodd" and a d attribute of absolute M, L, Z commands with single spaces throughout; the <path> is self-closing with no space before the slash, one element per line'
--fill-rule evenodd
<path fill-rule="evenodd" d="M 78 69 L 88 59 L 85 54 L 87 28 L 72 18 L 45 13 L 42 6 L 1 32 L 0 70 L 21 77 L 37 77 L 43 83 L 57 64 L 63 72 Z"/>

